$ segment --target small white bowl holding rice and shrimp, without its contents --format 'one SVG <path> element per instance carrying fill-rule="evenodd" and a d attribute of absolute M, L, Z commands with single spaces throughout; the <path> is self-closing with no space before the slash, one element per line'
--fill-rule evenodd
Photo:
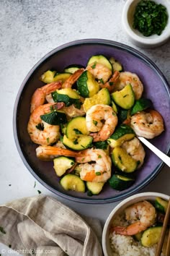
<path fill-rule="evenodd" d="M 164 200 L 169 200 L 169 195 L 164 195 L 157 192 L 143 192 L 137 195 L 133 195 L 131 197 L 126 198 L 120 204 L 118 204 L 112 212 L 109 214 L 107 221 L 104 224 L 104 229 L 102 233 L 102 248 L 104 252 L 104 256 L 112 256 L 112 249 L 109 243 L 109 229 L 112 226 L 112 221 L 118 214 L 122 213 L 125 208 L 130 205 L 133 205 L 135 202 L 140 202 L 142 200 L 150 200 L 153 201 L 156 197 L 161 197 Z"/>

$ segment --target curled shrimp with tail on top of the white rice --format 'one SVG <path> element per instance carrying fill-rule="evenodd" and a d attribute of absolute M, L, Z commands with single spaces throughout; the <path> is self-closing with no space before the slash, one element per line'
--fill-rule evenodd
<path fill-rule="evenodd" d="M 145 231 L 155 223 L 156 209 L 151 205 L 151 202 L 136 202 L 125 209 L 125 218 L 131 224 L 129 226 L 112 227 L 112 231 L 115 231 L 116 234 L 133 236 L 141 231 Z"/>

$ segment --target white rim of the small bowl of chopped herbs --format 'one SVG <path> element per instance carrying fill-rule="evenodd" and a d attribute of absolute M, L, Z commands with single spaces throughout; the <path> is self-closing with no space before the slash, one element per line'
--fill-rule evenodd
<path fill-rule="evenodd" d="M 140 0 L 135 0 L 138 4 L 138 2 Z M 162 35 L 159 35 L 158 37 L 156 38 L 150 38 L 150 37 L 146 37 L 146 38 L 143 38 L 143 37 L 140 37 L 139 35 L 137 35 L 133 30 L 132 28 L 130 27 L 130 24 L 128 22 L 128 12 L 129 12 L 129 9 L 131 7 L 131 4 L 133 4 L 134 0 L 127 0 L 123 9 L 122 9 L 122 25 L 126 31 L 126 33 L 128 34 L 128 36 L 130 38 L 132 38 L 133 40 L 135 40 L 136 42 L 140 43 L 140 44 L 143 44 L 143 45 L 146 45 L 146 46 L 153 46 L 153 45 L 158 45 L 159 43 L 164 43 L 166 42 L 166 40 L 168 40 L 170 38 L 170 30 L 169 30 L 169 24 L 170 24 L 170 17 L 169 17 L 169 20 L 167 22 L 167 25 L 165 27 L 165 32 L 166 33 L 163 33 Z M 169 13 L 169 10 L 170 10 L 170 4 L 166 1 L 164 3 L 164 5 L 166 6 L 166 9 L 167 9 L 167 12 L 170 16 L 170 13 Z M 167 6 L 169 8 L 167 8 Z"/>

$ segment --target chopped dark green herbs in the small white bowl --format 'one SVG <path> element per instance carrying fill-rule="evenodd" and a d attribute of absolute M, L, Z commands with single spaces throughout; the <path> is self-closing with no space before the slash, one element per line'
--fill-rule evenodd
<path fill-rule="evenodd" d="M 169 19 L 164 5 L 146 0 L 138 3 L 133 18 L 133 28 L 145 36 L 161 35 Z"/>

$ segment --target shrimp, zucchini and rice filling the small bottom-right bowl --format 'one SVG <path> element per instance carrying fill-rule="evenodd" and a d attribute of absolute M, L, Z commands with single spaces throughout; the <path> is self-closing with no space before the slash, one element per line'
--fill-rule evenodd
<path fill-rule="evenodd" d="M 135 202 L 115 216 L 109 230 L 113 255 L 156 255 L 167 208 L 168 202 L 156 197 Z M 161 255 L 166 255 L 167 241 L 168 228 Z"/>

